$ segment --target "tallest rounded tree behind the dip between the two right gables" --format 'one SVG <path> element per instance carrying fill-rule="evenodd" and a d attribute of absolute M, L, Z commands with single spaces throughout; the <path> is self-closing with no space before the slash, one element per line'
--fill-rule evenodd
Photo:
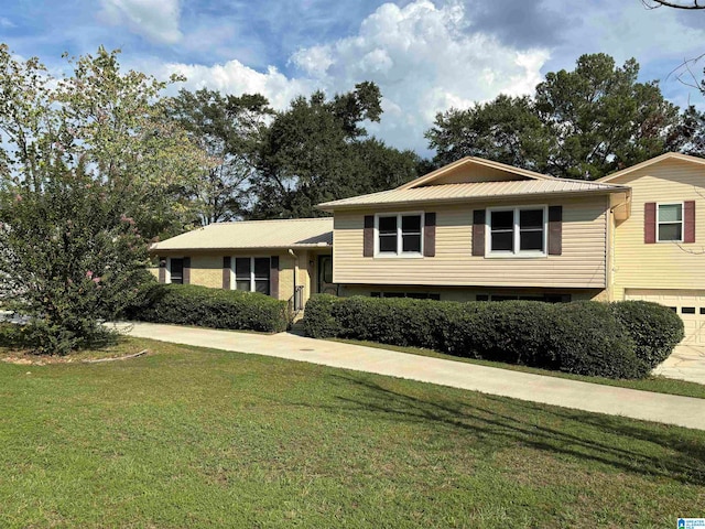
<path fill-rule="evenodd" d="M 583 55 L 573 72 L 546 74 L 535 109 L 555 138 L 546 172 L 598 179 L 664 152 L 679 123 L 677 107 L 655 82 L 638 83 L 632 58 L 617 67 L 609 55 Z"/>

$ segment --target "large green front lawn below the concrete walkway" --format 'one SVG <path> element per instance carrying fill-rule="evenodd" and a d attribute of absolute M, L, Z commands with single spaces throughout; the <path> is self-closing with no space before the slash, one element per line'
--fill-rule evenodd
<path fill-rule="evenodd" d="M 134 342 L 133 342 L 134 343 Z M 139 341 L 0 363 L 0 527 L 675 527 L 705 432 Z"/>

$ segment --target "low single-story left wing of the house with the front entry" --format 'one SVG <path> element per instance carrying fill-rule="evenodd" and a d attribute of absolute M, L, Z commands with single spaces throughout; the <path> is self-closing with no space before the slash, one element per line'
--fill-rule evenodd
<path fill-rule="evenodd" d="M 299 310 L 333 284 L 333 218 L 218 223 L 152 245 L 163 283 L 261 292 Z"/>

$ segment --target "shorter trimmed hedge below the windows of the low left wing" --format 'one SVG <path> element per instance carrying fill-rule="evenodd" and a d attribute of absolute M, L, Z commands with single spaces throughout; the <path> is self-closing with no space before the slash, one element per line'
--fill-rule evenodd
<path fill-rule="evenodd" d="M 140 301 L 124 311 L 128 320 L 200 327 L 279 333 L 291 317 L 285 301 L 257 292 L 195 284 L 150 283 Z"/>

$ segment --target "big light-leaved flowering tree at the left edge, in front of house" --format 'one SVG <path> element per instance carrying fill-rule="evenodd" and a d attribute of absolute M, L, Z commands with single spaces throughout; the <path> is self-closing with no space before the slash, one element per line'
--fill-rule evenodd
<path fill-rule="evenodd" d="M 178 190 L 208 160 L 165 117 L 165 87 L 117 52 L 55 78 L 0 45 L 0 296 L 23 341 L 66 353 L 106 337 L 148 274 L 149 238 L 194 217 Z"/>

